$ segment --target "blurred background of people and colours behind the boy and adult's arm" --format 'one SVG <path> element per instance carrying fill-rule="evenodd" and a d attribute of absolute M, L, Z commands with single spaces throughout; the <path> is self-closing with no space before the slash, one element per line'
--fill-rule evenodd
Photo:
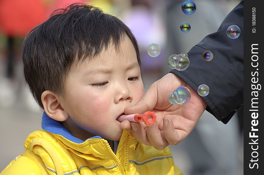
<path fill-rule="evenodd" d="M 182 12 L 182 0 L 0 0 L 0 171 L 25 150 L 27 135 L 41 129 L 42 111 L 22 74 L 23 38 L 53 10 L 74 2 L 98 6 L 132 30 L 139 43 L 147 91 L 169 73 L 170 55 L 188 52 L 217 31 L 240 0 L 194 0 L 197 10 L 192 15 Z M 190 32 L 180 31 L 183 22 L 190 23 Z M 151 43 L 161 47 L 158 57 L 147 54 Z M 243 108 L 226 125 L 205 111 L 193 132 L 170 146 L 174 162 L 185 175 L 241 175 L 242 134 Z"/>

